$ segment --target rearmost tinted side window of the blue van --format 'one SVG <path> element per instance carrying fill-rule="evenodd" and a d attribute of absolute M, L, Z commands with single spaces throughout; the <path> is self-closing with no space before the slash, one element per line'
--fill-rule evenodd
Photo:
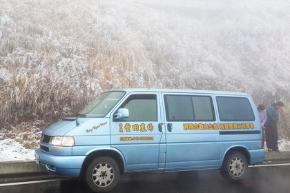
<path fill-rule="evenodd" d="M 251 104 L 247 98 L 217 96 L 220 121 L 255 121 Z"/>

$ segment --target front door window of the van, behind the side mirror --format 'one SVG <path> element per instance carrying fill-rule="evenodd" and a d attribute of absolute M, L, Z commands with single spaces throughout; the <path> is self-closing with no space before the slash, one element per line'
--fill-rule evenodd
<path fill-rule="evenodd" d="M 155 94 L 133 94 L 121 108 L 129 110 L 129 118 L 123 121 L 157 121 L 157 96 Z"/>

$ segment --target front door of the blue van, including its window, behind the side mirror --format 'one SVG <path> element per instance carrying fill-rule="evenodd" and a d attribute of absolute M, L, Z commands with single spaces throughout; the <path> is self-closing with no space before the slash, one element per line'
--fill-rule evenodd
<path fill-rule="evenodd" d="M 159 106 L 157 92 L 130 94 L 119 105 L 118 109 L 128 109 L 129 116 L 111 122 L 111 146 L 122 152 L 126 171 L 164 171 L 165 137 L 162 139 Z"/>

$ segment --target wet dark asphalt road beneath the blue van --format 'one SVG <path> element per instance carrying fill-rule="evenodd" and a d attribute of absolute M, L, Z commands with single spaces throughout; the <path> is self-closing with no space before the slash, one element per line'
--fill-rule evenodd
<path fill-rule="evenodd" d="M 48 181 L 47 181 L 48 179 Z M 31 182 L 32 181 L 32 182 Z M 23 184 L 24 183 L 24 184 Z M 13 176 L 0 179 L 0 192 L 5 193 L 86 193 L 86 184 L 79 179 L 58 179 L 55 176 Z M 185 192 L 290 192 L 290 164 L 250 167 L 241 183 L 222 179 L 218 170 L 173 172 L 166 174 L 126 174 L 114 193 L 185 193 Z"/>

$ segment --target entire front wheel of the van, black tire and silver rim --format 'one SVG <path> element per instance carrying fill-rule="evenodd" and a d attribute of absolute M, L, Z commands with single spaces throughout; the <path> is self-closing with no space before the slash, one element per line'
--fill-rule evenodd
<path fill-rule="evenodd" d="M 119 181 L 119 166 L 110 156 L 100 156 L 86 169 L 86 183 L 94 192 L 113 190 Z"/>

